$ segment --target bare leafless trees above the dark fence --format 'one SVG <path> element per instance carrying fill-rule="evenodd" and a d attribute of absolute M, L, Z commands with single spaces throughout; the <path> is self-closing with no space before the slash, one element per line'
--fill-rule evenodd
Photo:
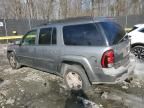
<path fill-rule="evenodd" d="M 55 20 L 144 13 L 144 0 L 1 0 L 0 18 Z"/>

